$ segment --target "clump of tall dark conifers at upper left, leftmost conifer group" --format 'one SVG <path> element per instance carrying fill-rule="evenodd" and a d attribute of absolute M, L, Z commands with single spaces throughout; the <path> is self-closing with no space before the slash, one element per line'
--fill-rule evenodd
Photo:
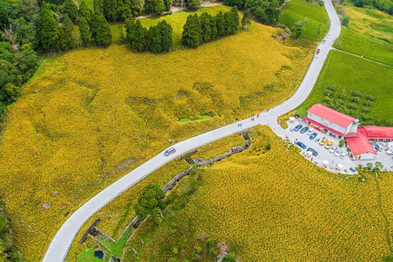
<path fill-rule="evenodd" d="M 71 3 L 68 3 L 71 1 Z M 65 6 L 67 6 L 65 8 Z M 76 9 L 71 8 L 73 5 Z M 90 38 L 95 43 L 108 46 L 112 40 L 111 29 L 101 13 L 91 13 L 87 5 L 82 2 L 80 8 L 66 0 L 63 5 L 63 19 L 60 25 L 49 5 L 42 1 L 41 11 L 37 21 L 37 36 L 40 48 L 44 52 L 67 51 L 78 45 L 87 46 Z M 79 34 L 74 29 L 74 22 L 79 21 Z"/>

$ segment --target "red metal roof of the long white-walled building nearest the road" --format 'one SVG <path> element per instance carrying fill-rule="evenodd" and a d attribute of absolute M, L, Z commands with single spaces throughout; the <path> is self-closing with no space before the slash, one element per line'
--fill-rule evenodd
<path fill-rule="evenodd" d="M 321 104 L 311 106 L 308 112 L 345 128 L 355 120 L 352 116 L 347 116 Z"/>

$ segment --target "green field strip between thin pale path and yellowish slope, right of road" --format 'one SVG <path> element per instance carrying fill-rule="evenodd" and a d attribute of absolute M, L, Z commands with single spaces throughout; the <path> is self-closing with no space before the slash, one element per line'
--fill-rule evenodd
<path fill-rule="evenodd" d="M 381 63 L 393 65 L 393 45 L 343 27 L 334 47 Z"/>

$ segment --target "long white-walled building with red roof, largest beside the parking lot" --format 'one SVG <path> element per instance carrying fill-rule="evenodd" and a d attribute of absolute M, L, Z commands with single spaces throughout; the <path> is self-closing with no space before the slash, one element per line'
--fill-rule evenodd
<path fill-rule="evenodd" d="M 321 104 L 311 106 L 305 120 L 315 129 L 338 138 L 344 138 L 349 132 L 356 132 L 359 125 L 358 119 Z"/>

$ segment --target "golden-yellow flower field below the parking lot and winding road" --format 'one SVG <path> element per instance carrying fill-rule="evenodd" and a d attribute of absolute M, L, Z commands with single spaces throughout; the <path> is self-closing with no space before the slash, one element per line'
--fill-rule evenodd
<path fill-rule="evenodd" d="M 168 212 L 160 226 L 143 224 L 125 260 L 191 261 L 207 238 L 226 242 L 240 261 L 382 261 L 392 254 L 391 174 L 339 179 L 285 150 L 268 127 L 256 131 L 250 150 L 203 170 L 175 215 Z"/>

